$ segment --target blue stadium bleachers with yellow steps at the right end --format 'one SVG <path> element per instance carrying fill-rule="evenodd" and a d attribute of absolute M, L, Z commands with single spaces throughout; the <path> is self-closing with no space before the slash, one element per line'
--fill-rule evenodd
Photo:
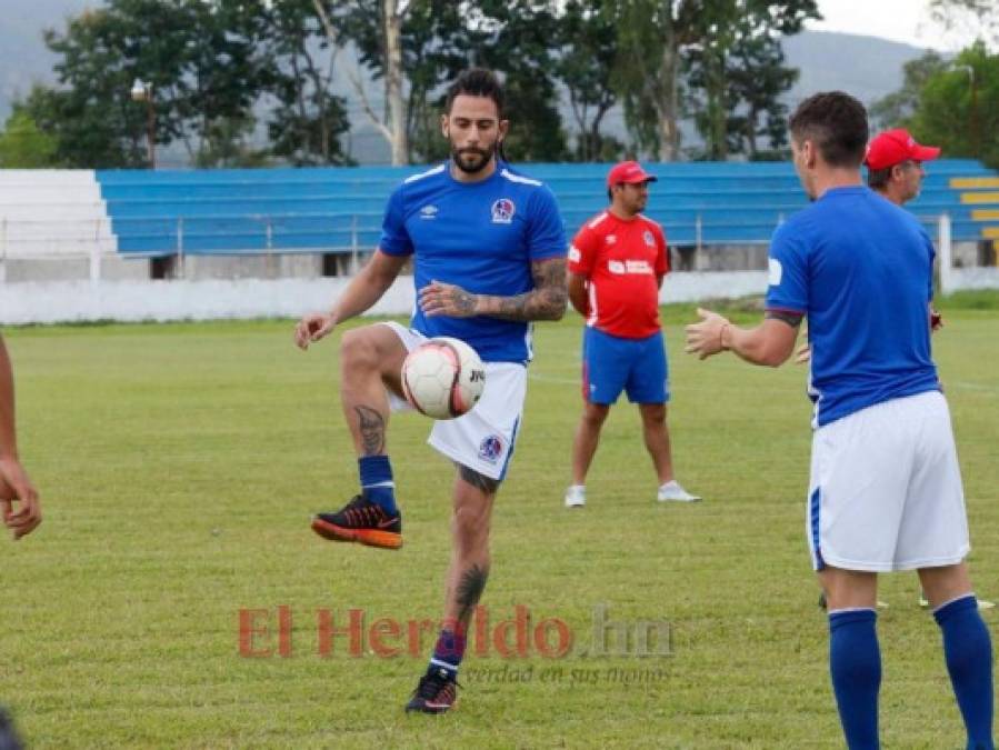
<path fill-rule="evenodd" d="M 368 250 L 399 181 L 422 167 L 98 171 L 123 254 Z M 767 242 L 807 199 L 789 163 L 648 164 L 659 178 L 647 213 L 673 246 Z M 606 164 L 529 164 L 575 231 L 603 208 Z M 973 160 L 928 164 L 908 206 L 932 227 L 948 213 L 955 240 L 999 237 L 999 176 Z"/>

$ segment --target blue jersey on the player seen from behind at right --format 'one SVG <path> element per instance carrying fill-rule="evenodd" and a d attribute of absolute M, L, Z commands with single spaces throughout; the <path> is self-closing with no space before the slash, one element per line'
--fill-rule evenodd
<path fill-rule="evenodd" d="M 912 214 L 862 186 L 827 191 L 775 232 L 767 309 L 808 317 L 815 426 L 939 389 L 933 254 Z"/>

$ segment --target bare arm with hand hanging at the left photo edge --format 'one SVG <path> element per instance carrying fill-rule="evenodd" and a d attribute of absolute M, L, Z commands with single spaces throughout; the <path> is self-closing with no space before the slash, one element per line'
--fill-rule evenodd
<path fill-rule="evenodd" d="M 30 533 L 41 523 L 38 492 L 21 466 L 14 423 L 13 370 L 7 346 L 0 338 L 0 509 L 3 522 L 14 539 Z M 13 503 L 19 508 L 14 510 Z"/>

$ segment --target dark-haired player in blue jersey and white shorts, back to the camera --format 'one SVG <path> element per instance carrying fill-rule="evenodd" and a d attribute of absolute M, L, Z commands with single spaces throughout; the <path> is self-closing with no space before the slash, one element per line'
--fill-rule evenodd
<path fill-rule="evenodd" d="M 687 351 L 777 367 L 808 318 L 808 544 L 829 600 L 829 666 L 847 744 L 879 747 L 877 574 L 915 569 L 942 631 L 968 748 L 991 749 L 991 639 L 963 562 L 961 477 L 930 358 L 933 247 L 915 217 L 863 186 L 860 102 L 816 94 L 790 131 L 815 202 L 773 234 L 766 318 L 743 329 L 700 310 Z"/>

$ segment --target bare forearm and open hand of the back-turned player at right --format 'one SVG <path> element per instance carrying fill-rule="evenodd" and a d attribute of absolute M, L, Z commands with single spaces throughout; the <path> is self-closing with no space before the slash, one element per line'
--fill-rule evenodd
<path fill-rule="evenodd" d="M 732 351 L 752 364 L 780 367 L 795 350 L 801 316 L 768 313 L 756 328 L 733 326 L 717 312 L 698 309 L 701 322 L 687 327 L 686 351 L 707 359 Z"/>

